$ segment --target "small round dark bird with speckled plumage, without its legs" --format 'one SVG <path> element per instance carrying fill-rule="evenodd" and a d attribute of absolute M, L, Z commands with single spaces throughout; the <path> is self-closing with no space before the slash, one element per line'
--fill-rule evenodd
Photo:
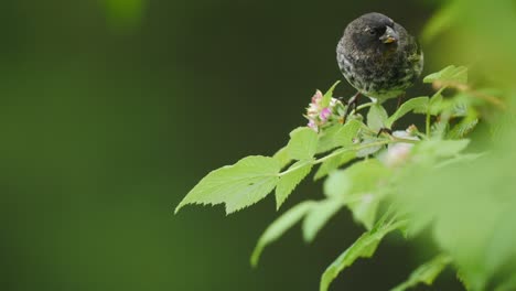
<path fill-rule="evenodd" d="M 387 41 L 390 34 L 396 37 Z M 380 13 L 352 21 L 337 44 L 336 55 L 347 82 L 380 103 L 402 95 L 423 67 L 423 54 L 415 37 Z"/>

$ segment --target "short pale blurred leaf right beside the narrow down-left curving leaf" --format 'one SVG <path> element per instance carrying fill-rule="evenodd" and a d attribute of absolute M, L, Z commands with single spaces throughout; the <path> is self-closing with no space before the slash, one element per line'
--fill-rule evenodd
<path fill-rule="evenodd" d="M 304 217 L 302 229 L 304 241 L 311 242 L 321 228 L 332 218 L 344 205 L 342 200 L 325 200 L 318 202 L 310 208 Z"/>

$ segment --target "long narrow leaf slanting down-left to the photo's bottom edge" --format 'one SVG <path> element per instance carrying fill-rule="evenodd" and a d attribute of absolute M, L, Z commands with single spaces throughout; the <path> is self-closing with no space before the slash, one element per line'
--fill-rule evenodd
<path fill-rule="evenodd" d="M 385 217 L 384 217 L 385 218 Z M 327 291 L 330 284 L 346 267 L 353 265 L 358 258 L 370 258 L 384 237 L 401 227 L 405 223 L 386 223 L 380 219 L 373 229 L 363 234 L 336 260 L 330 265 L 321 277 L 320 291 Z"/>

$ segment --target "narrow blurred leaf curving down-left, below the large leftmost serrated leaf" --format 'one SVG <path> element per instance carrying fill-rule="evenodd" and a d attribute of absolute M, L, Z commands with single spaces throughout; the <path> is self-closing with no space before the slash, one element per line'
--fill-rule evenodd
<path fill-rule="evenodd" d="M 260 259 L 260 255 L 264 251 L 264 248 L 277 240 L 284 231 L 291 228 L 295 223 L 301 220 L 303 216 L 309 212 L 315 202 L 313 201 L 305 201 L 302 202 L 294 207 L 290 208 L 283 215 L 281 215 L 278 219 L 276 219 L 261 235 L 258 239 L 258 244 L 252 251 L 250 263 L 251 266 L 256 267 L 258 265 L 258 260 Z"/>

